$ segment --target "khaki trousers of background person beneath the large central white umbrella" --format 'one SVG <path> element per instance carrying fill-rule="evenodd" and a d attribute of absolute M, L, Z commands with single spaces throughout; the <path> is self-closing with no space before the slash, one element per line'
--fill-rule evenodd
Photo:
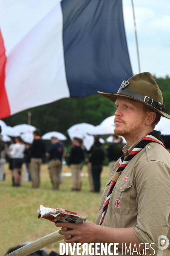
<path fill-rule="evenodd" d="M 81 165 L 80 164 L 71 164 L 70 166 L 72 172 L 72 189 L 80 189 L 81 186 Z"/>

